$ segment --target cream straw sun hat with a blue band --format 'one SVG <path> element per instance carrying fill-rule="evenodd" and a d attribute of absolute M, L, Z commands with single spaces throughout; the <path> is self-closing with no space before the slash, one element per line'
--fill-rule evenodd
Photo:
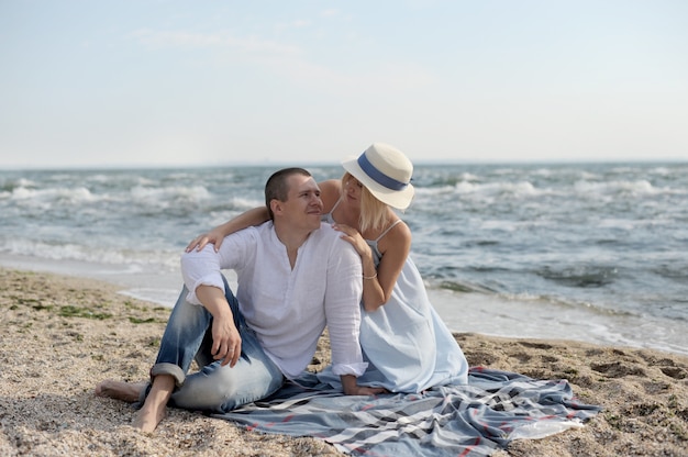
<path fill-rule="evenodd" d="M 413 164 L 396 147 L 373 143 L 358 157 L 346 158 L 342 166 L 382 203 L 398 210 L 411 204 Z"/>

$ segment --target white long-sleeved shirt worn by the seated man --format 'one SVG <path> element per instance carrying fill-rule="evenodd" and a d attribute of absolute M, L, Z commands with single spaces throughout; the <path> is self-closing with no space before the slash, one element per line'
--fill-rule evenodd
<path fill-rule="evenodd" d="M 240 310 L 287 378 L 310 364 L 325 324 L 333 372 L 363 375 L 368 365 L 358 342 L 363 268 L 340 232 L 321 224 L 299 247 L 293 269 L 271 221 L 226 236 L 218 253 L 212 245 L 186 253 L 187 301 L 200 304 L 196 289 L 201 285 L 224 290 L 222 269 L 236 271 Z"/>

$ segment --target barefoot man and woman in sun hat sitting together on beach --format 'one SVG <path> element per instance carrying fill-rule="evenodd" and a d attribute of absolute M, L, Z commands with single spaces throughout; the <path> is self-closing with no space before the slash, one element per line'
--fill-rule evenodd
<path fill-rule="evenodd" d="M 275 172 L 266 208 L 193 239 L 151 382 L 107 380 L 96 394 L 141 402 L 134 425 L 145 432 L 167 404 L 226 413 L 298 383 L 325 326 L 332 364 L 318 377 L 345 394 L 466 383 L 466 358 L 392 210 L 413 198 L 411 163 L 376 143 L 342 165 L 341 180 L 320 185 L 301 168 Z M 236 294 L 222 269 L 236 271 Z M 192 360 L 200 370 L 187 375 Z"/>

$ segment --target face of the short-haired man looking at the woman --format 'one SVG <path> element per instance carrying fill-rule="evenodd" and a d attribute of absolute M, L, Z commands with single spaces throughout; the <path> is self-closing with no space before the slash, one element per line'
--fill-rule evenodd
<path fill-rule="evenodd" d="M 289 193 L 282 203 L 285 221 L 293 228 L 320 228 L 322 200 L 315 180 L 310 176 L 291 175 L 287 181 Z"/>

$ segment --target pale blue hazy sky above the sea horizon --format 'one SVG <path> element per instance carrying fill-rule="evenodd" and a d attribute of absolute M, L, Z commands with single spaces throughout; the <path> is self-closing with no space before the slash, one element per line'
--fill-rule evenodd
<path fill-rule="evenodd" d="M 685 0 L 0 0 L 0 169 L 688 160 Z"/>

